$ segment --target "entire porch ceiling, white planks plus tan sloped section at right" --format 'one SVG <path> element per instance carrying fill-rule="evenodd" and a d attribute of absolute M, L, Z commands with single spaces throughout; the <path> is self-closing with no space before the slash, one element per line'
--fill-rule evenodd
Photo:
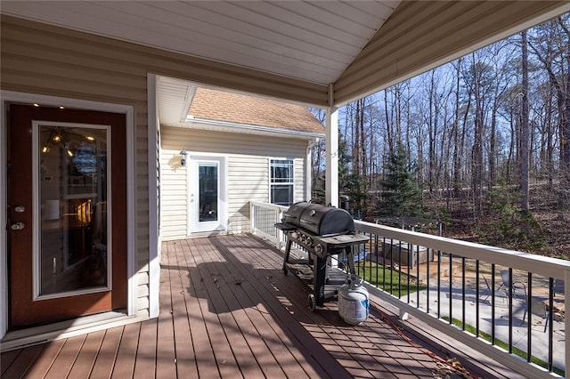
<path fill-rule="evenodd" d="M 306 83 L 326 93 L 334 84 L 337 105 L 569 10 L 566 1 L 543 0 L 3 1 L 1 7 L 15 17 L 286 77 L 291 88 Z M 315 96 L 314 105 L 326 98 Z"/>

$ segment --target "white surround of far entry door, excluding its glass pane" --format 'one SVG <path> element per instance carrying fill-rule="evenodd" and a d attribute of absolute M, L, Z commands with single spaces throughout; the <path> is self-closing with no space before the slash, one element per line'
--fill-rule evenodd
<path fill-rule="evenodd" d="M 209 153 L 187 153 L 188 169 L 186 174 L 186 193 L 188 197 L 187 235 L 197 233 L 226 231 L 227 225 L 227 157 Z M 218 164 L 218 188 L 217 188 L 217 220 L 216 222 L 204 222 L 199 226 L 197 207 L 199 206 L 199 194 L 197 187 L 197 168 L 202 162 L 214 162 Z"/>

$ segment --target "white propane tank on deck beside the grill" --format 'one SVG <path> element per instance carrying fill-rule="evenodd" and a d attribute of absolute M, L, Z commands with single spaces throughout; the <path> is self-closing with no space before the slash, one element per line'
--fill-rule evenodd
<path fill-rule="evenodd" d="M 350 325 L 359 325 L 368 319 L 368 290 L 362 278 L 351 274 L 338 289 L 338 314 Z"/>

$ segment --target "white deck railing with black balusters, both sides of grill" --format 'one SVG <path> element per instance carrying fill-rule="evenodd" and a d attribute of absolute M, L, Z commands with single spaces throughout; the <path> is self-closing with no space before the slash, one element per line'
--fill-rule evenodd
<path fill-rule="evenodd" d="M 284 236 L 274 224 L 286 209 L 252 202 L 252 233 L 281 249 Z M 360 246 L 366 258 L 356 263 L 356 270 L 379 288 L 375 293 L 400 309 L 401 316 L 422 319 L 528 377 L 558 376 L 569 367 L 566 330 L 570 320 L 564 315 L 570 309 L 566 301 L 570 262 L 370 222 L 354 223 L 357 232 L 369 237 Z M 514 290 L 504 286 L 501 271 Z M 557 286 L 561 280 L 564 284 Z M 395 289 L 394 282 L 402 284 Z"/>

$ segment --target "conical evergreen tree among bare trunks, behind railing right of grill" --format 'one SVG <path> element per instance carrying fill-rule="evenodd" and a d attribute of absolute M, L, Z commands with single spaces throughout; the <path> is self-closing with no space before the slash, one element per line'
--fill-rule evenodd
<path fill-rule="evenodd" d="M 416 181 L 417 169 L 402 141 L 397 141 L 394 153 L 388 157 L 386 179 L 380 181 L 384 189 L 379 203 L 382 214 L 418 216 L 422 212 L 421 188 Z"/>

